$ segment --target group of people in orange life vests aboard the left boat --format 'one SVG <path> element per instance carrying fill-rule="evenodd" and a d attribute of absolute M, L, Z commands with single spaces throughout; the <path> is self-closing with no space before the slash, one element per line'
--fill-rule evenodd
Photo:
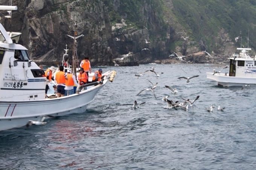
<path fill-rule="evenodd" d="M 88 81 L 89 72 L 91 73 L 91 65 L 90 61 L 88 60 L 88 57 L 85 57 L 84 60 L 82 60 L 82 62 L 80 63 L 79 74 L 77 76 L 77 79 L 76 76 L 72 74 L 71 69 L 67 69 L 67 71 L 64 72 L 65 67 L 66 65 L 60 65 L 59 70 L 57 71 L 54 66 L 51 66 L 44 72 L 44 76 L 47 78 L 45 88 L 46 97 L 50 82 L 55 84 L 54 81 L 56 81 L 56 85 L 54 85 L 53 88 L 55 88 L 56 90 L 57 97 L 62 97 L 74 94 L 77 86 L 82 86 L 84 84 L 92 83 L 95 81 L 101 81 L 102 79 L 102 69 L 98 69 L 98 71 L 94 73 L 92 81 Z M 43 71 L 42 66 L 41 70 Z M 53 73 L 55 71 L 57 72 L 53 78 Z"/>

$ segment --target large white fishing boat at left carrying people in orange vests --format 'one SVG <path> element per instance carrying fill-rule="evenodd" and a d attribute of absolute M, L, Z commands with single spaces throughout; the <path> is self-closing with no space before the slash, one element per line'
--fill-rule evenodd
<path fill-rule="evenodd" d="M 0 9 L 17 10 L 17 7 L 0 6 Z M 6 32 L 2 24 L 0 33 L 0 131 L 27 125 L 30 120 L 43 122 L 45 117 L 84 113 L 98 91 L 114 77 L 114 71 L 107 71 L 102 81 L 88 84 L 94 85 L 87 90 L 45 98 L 46 77 L 30 60 L 27 48 L 17 44 L 18 37 Z"/>

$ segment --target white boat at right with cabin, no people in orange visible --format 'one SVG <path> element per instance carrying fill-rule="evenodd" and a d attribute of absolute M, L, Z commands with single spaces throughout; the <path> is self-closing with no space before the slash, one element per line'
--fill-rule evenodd
<path fill-rule="evenodd" d="M 251 58 L 248 51 L 251 48 L 237 48 L 240 53 L 234 53 L 229 58 L 229 72 L 221 71 L 207 72 L 207 78 L 214 80 L 220 86 L 244 86 L 245 84 L 256 84 L 256 60 Z"/>

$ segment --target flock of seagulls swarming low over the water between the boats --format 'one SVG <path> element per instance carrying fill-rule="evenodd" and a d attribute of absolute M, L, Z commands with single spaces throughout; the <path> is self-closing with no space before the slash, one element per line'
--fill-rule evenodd
<path fill-rule="evenodd" d="M 227 68 L 227 66 L 225 66 L 224 68 Z M 146 70 L 145 72 L 135 74 L 135 77 L 139 78 L 139 77 L 142 77 L 144 74 L 150 73 L 150 72 L 154 72 L 155 75 L 157 75 L 157 77 L 159 77 L 159 74 L 157 74 L 155 72 L 154 67 L 151 67 L 150 69 Z M 161 72 L 161 73 L 163 74 L 163 72 Z M 199 75 L 194 75 L 192 77 L 184 77 L 183 76 L 183 77 L 178 77 L 178 79 L 185 79 L 185 80 L 187 80 L 186 82 L 189 83 L 192 78 L 197 78 L 197 77 L 199 77 Z M 144 92 L 150 92 L 154 96 L 155 99 L 158 99 L 157 96 L 155 95 L 155 90 L 157 89 L 158 82 L 152 83 L 152 81 L 150 81 L 150 80 L 148 80 L 148 82 L 151 84 L 150 87 L 147 87 L 145 89 L 140 90 L 139 93 L 137 93 L 136 96 L 139 96 Z M 189 107 L 193 107 L 195 102 L 198 101 L 198 99 L 200 98 L 199 95 L 197 95 L 194 99 L 193 98 L 192 99 L 186 99 L 186 98 L 183 98 L 182 96 L 180 96 L 182 101 L 171 100 L 171 99 L 169 99 L 171 95 L 177 95 L 178 94 L 177 88 L 176 87 L 174 88 L 174 87 L 168 86 L 168 85 L 165 85 L 164 87 L 166 87 L 166 89 L 169 89 L 171 91 L 171 93 L 169 93 L 169 95 L 166 95 L 162 98 L 162 101 L 167 103 L 167 106 L 165 107 L 166 109 L 171 109 L 172 108 L 172 109 L 177 110 L 178 108 L 180 108 L 182 110 L 188 110 Z M 137 109 L 137 108 L 139 108 L 140 105 L 144 105 L 145 103 L 146 102 L 138 104 L 137 101 L 134 101 L 133 109 Z M 214 108 L 215 107 L 213 105 L 211 105 L 209 108 L 205 108 L 205 110 L 208 111 L 208 112 L 213 112 Z M 224 109 L 225 109 L 225 107 L 221 108 L 220 106 L 218 106 L 218 111 L 224 111 Z"/>

